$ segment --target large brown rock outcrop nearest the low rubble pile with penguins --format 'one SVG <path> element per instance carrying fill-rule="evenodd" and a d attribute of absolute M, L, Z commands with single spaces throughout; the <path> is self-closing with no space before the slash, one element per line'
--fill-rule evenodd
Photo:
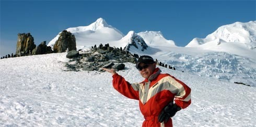
<path fill-rule="evenodd" d="M 76 38 L 71 32 L 66 30 L 62 31 L 59 39 L 55 42 L 53 46 L 54 53 L 63 53 L 68 50 L 76 50 Z"/>

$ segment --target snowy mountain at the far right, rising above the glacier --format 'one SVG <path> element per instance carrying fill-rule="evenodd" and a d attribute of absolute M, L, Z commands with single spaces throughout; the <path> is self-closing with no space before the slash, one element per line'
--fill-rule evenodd
<path fill-rule="evenodd" d="M 211 43 L 211 45 L 208 45 Z M 232 45 L 243 44 L 249 49 L 256 47 L 256 21 L 246 23 L 235 22 L 219 27 L 212 34 L 206 36 L 205 39 L 194 38 L 185 47 L 216 47 L 225 43 Z"/>

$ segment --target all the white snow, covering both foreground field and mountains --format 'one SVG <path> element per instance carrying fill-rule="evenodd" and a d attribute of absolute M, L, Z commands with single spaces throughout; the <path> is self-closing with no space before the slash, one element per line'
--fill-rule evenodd
<path fill-rule="evenodd" d="M 142 51 L 176 70 L 159 67 L 192 88 L 192 104 L 177 113 L 174 126 L 255 126 L 256 21 L 235 22 L 218 28 L 186 47 L 166 40 L 160 31 L 139 32 L 148 45 Z M 68 28 L 77 49 L 95 44 L 125 47 L 131 36 L 99 18 L 89 26 Z M 49 42 L 53 45 L 59 35 Z M 66 53 L 0 60 L 0 126 L 141 126 L 138 101 L 112 87 L 107 72 L 66 71 Z M 183 71 L 183 72 L 182 72 Z M 119 74 L 141 82 L 133 63 Z M 242 82 L 252 87 L 235 84 Z"/>

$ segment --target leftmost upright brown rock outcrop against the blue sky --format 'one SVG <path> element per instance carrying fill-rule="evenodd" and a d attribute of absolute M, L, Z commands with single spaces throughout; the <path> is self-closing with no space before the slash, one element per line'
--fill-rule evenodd
<path fill-rule="evenodd" d="M 19 33 L 18 41 L 16 46 L 16 54 L 19 56 L 25 56 L 28 54 L 32 54 L 32 50 L 36 48 L 34 44 L 34 38 L 30 33 Z"/>

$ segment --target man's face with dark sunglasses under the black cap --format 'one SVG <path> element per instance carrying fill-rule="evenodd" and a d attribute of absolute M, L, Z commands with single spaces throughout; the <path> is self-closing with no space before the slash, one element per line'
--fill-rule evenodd
<path fill-rule="evenodd" d="M 151 74 L 153 74 L 154 70 L 156 69 L 156 63 L 139 63 L 139 68 L 142 70 L 139 70 L 139 73 L 142 75 L 143 78 L 148 79 Z"/>

